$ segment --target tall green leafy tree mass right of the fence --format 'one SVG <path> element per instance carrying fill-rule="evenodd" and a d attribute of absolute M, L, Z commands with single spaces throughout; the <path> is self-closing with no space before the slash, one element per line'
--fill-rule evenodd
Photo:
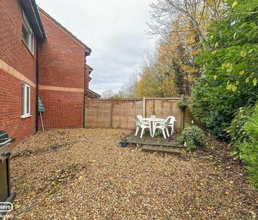
<path fill-rule="evenodd" d="M 203 77 L 193 91 L 195 120 L 214 137 L 227 140 L 235 112 L 258 98 L 258 0 L 238 0 L 211 23 L 197 59 Z"/>

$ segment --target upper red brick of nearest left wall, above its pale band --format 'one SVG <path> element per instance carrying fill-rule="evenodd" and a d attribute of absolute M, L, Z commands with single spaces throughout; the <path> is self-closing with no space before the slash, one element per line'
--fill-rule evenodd
<path fill-rule="evenodd" d="M 0 59 L 35 82 L 35 57 L 21 40 L 22 22 L 20 1 L 1 0 Z"/>

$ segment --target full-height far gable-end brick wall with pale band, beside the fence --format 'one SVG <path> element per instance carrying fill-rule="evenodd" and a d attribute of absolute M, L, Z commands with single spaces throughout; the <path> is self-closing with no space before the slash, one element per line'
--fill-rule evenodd
<path fill-rule="evenodd" d="M 39 46 L 44 127 L 82 127 L 85 47 L 45 13 L 39 14 L 47 35 L 47 41 Z"/>

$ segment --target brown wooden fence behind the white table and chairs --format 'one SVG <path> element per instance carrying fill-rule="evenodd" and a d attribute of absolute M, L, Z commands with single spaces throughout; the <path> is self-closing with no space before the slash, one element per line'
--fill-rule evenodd
<path fill-rule="evenodd" d="M 186 100 L 188 108 L 185 110 L 184 123 L 182 122 L 183 111 L 177 105 L 179 100 L 180 98 L 86 100 L 85 126 L 135 129 L 137 115 L 146 115 L 146 117 L 156 115 L 161 118 L 173 115 L 176 117 L 176 131 L 179 131 L 183 126 L 190 125 L 192 121 L 189 105 L 192 100 Z"/>

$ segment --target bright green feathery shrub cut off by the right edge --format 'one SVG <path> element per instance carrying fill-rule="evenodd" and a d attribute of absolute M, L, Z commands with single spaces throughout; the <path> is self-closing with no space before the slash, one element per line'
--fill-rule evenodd
<path fill-rule="evenodd" d="M 246 168 L 251 174 L 250 183 L 258 189 L 258 104 L 250 120 L 245 123 L 244 129 L 250 141 L 239 144 L 240 158 L 247 163 Z"/>

